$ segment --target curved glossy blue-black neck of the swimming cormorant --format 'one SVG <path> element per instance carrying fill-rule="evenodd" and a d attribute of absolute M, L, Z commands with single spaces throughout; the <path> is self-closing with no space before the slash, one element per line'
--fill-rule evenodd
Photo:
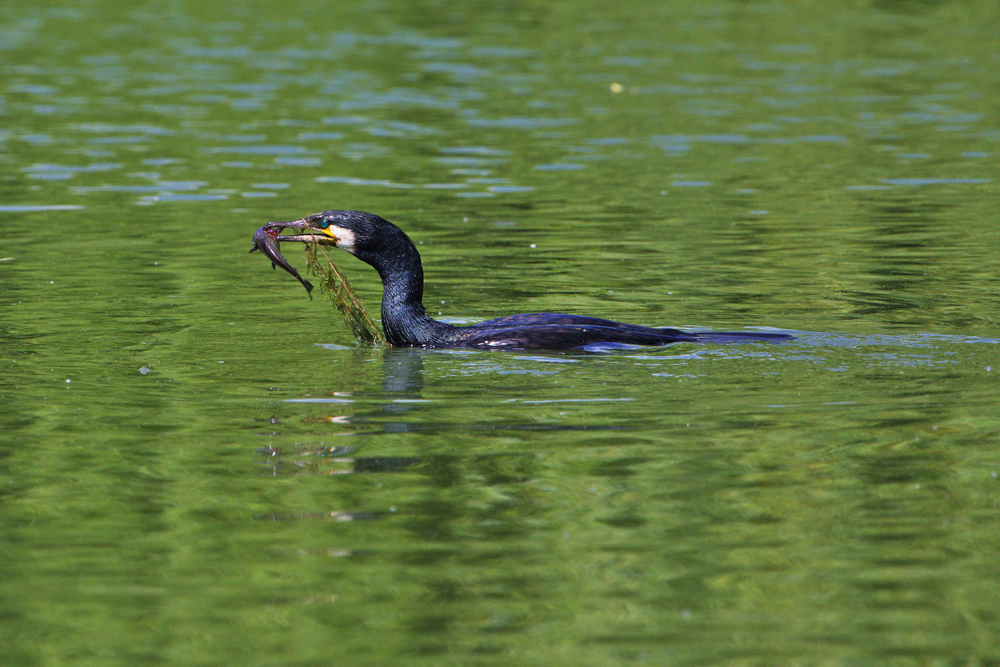
<path fill-rule="evenodd" d="M 422 302 L 424 269 L 420 253 L 405 235 L 393 239 L 388 250 L 375 255 L 358 254 L 382 278 L 382 329 L 390 345 L 432 345 L 448 337 L 455 327 L 427 315 Z"/>

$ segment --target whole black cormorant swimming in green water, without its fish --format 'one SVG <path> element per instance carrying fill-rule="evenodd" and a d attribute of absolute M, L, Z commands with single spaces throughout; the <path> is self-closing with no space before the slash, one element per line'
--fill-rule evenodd
<path fill-rule="evenodd" d="M 473 349 L 566 349 L 600 343 L 749 343 L 791 340 L 787 334 L 685 332 L 646 327 L 584 315 L 529 313 L 507 315 L 456 327 L 431 318 L 424 309 L 424 270 L 420 253 L 403 230 L 363 211 L 323 211 L 262 229 L 305 233 L 277 235 L 278 241 L 334 245 L 370 264 L 382 278 L 382 328 L 394 347 Z"/>

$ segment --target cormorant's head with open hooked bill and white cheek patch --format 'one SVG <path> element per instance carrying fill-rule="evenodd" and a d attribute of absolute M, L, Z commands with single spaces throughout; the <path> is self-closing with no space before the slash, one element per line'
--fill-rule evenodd
<path fill-rule="evenodd" d="M 378 266 L 400 255 L 415 253 L 413 242 L 396 225 L 364 211 L 322 211 L 292 222 L 272 222 L 276 229 L 288 227 L 302 232 L 289 241 L 309 243 L 319 240 L 334 245 L 358 259 Z"/>

